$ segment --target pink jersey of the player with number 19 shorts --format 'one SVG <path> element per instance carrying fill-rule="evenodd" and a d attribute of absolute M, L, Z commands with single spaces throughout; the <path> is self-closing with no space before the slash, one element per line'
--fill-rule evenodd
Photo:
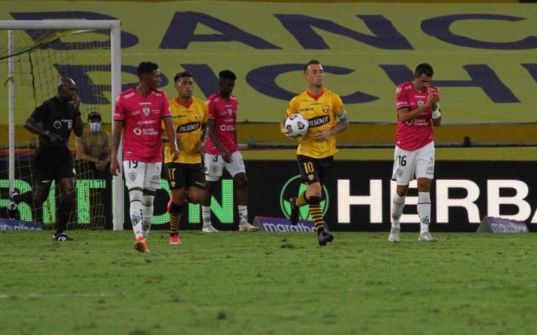
<path fill-rule="evenodd" d="M 123 121 L 123 160 L 162 162 L 163 117 L 171 117 L 171 113 L 162 91 L 142 97 L 131 88 L 117 97 L 114 120 Z"/>

